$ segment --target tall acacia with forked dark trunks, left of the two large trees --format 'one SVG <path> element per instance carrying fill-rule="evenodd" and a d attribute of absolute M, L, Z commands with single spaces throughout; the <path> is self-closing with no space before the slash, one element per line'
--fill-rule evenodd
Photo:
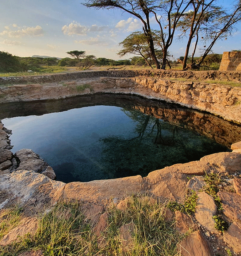
<path fill-rule="evenodd" d="M 84 5 L 97 9 L 119 8 L 141 20 L 144 34 L 148 40 L 150 54 L 156 64 L 156 68 L 165 69 L 168 48 L 172 44 L 177 24 L 191 2 L 192 0 L 87 0 Z M 172 13 L 175 15 L 172 16 Z M 154 15 L 160 27 L 159 33 L 163 54 L 161 67 L 155 54 L 153 35 L 150 27 L 150 16 L 152 15 Z"/>

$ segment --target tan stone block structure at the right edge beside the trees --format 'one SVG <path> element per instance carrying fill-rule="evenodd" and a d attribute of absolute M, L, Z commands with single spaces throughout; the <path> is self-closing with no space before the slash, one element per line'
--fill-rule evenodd
<path fill-rule="evenodd" d="M 241 71 L 241 52 L 223 52 L 220 71 Z"/>

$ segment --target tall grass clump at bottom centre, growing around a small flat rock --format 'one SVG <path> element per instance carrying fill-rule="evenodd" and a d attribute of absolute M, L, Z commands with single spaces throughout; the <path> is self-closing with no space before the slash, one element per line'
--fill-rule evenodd
<path fill-rule="evenodd" d="M 110 208 L 108 228 L 106 230 L 107 245 L 101 251 L 104 255 L 159 256 L 178 255 L 177 244 L 181 235 L 175 229 L 173 220 L 165 219 L 165 205 L 153 203 L 149 197 L 128 197 L 126 210 Z M 131 246 L 125 251 L 119 238 L 123 225 L 134 226 Z"/>

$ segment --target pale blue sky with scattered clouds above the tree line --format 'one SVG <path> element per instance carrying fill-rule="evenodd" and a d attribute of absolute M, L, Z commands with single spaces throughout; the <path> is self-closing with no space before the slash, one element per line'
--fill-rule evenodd
<path fill-rule="evenodd" d="M 142 23 L 120 10 L 84 7 L 84 0 L 0 0 L 0 51 L 20 57 L 32 55 L 70 57 L 66 52 L 85 51 L 97 58 L 119 58 L 119 42 L 142 30 Z M 229 8 L 232 0 L 219 0 Z M 154 27 L 155 23 L 152 22 Z M 241 50 L 241 25 L 213 51 Z M 198 48 L 203 48 L 200 42 Z M 174 39 L 169 52 L 177 59 L 185 53 L 185 40 Z M 198 53 L 198 56 L 200 53 Z"/>

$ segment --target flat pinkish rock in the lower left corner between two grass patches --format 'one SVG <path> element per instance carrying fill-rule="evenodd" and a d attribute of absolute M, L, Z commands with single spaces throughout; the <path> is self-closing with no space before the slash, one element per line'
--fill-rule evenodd
<path fill-rule="evenodd" d="M 0 245 L 5 246 L 11 244 L 13 241 L 17 241 L 19 236 L 25 234 L 34 234 L 38 227 L 38 219 L 35 217 L 26 217 L 21 223 L 6 234 L 0 241 Z"/>

